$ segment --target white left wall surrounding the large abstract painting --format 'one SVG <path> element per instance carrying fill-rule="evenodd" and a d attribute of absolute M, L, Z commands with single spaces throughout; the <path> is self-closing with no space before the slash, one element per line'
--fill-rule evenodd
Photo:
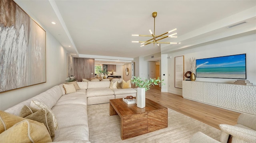
<path fill-rule="evenodd" d="M 27 12 L 27 11 L 26 11 Z M 27 12 L 32 18 L 33 15 Z M 36 18 L 33 18 L 36 22 Z M 40 22 L 38 22 L 40 25 Z M 43 28 L 44 26 L 41 25 Z M 0 94 L 0 110 L 6 110 L 22 101 L 36 96 L 49 88 L 65 82 L 67 77 L 66 50 L 46 31 L 46 83 L 29 86 Z M 40 76 L 40 75 L 38 75 Z"/>

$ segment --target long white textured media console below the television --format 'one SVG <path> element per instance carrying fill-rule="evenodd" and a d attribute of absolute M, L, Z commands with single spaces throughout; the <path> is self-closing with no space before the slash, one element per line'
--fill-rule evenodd
<path fill-rule="evenodd" d="M 256 86 L 183 80 L 182 96 L 212 106 L 256 115 Z"/>

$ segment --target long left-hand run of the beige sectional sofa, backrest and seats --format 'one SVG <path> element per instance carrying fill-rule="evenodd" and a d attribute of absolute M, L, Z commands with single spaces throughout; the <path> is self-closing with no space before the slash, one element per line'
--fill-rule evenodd
<path fill-rule="evenodd" d="M 82 84 L 85 87 L 86 83 Z M 63 85 L 60 84 L 5 110 L 5 112 L 19 116 L 22 107 L 30 106 L 31 100 L 46 104 L 55 114 L 58 129 L 55 130 L 53 142 L 90 143 L 86 89 L 65 94 Z"/>

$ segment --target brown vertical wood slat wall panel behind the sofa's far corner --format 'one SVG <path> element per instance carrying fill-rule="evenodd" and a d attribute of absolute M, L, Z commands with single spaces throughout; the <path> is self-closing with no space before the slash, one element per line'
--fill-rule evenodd
<path fill-rule="evenodd" d="M 94 68 L 95 68 L 94 59 L 74 58 L 73 64 L 74 64 L 74 76 L 76 77 L 76 80 L 82 81 L 82 78 L 94 77 Z"/>

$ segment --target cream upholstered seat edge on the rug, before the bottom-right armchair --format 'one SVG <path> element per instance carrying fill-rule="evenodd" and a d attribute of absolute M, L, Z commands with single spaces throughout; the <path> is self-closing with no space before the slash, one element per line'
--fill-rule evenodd
<path fill-rule="evenodd" d="M 195 133 L 189 141 L 190 143 L 220 143 L 208 135 L 198 131 Z"/>

